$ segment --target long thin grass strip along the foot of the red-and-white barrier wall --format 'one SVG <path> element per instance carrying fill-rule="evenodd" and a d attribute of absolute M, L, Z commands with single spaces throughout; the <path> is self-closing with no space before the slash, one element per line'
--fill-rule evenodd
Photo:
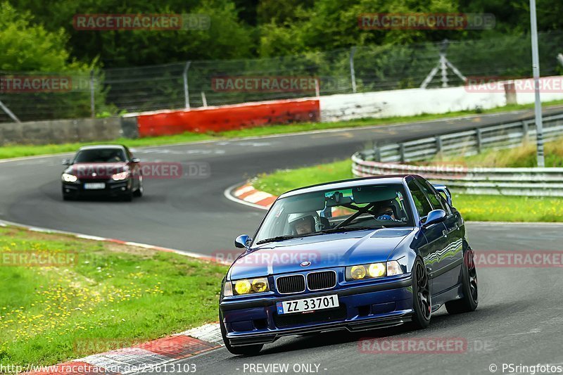
<path fill-rule="evenodd" d="M 555 106 L 563 104 L 563 101 L 550 101 L 543 103 L 544 106 Z M 491 108 L 489 110 L 462 110 L 457 112 L 442 113 L 437 115 L 423 114 L 417 116 L 405 116 L 405 117 L 387 117 L 379 119 L 362 119 L 362 120 L 350 120 L 350 121 L 340 121 L 340 122 L 308 122 L 300 124 L 289 124 L 289 125 L 271 125 L 265 127 L 253 127 L 240 130 L 232 130 L 229 132 L 217 132 L 217 133 L 189 133 L 177 134 L 171 136 L 155 136 L 147 137 L 142 139 L 115 139 L 113 141 L 103 141 L 103 143 L 118 143 L 125 144 L 129 147 L 141 147 L 141 146 L 160 146 L 167 144 L 183 144 L 196 141 L 206 141 L 210 139 L 232 139 L 241 138 L 247 136 L 267 136 L 274 134 L 286 134 L 294 132 L 310 132 L 313 130 L 326 130 L 326 129 L 340 129 L 346 127 L 368 127 L 377 125 L 393 125 L 400 122 L 415 122 L 415 121 L 431 121 L 440 120 L 449 117 L 459 117 L 463 115 L 476 115 L 476 114 L 486 114 L 486 113 L 499 113 L 508 112 L 511 110 L 522 110 L 533 108 L 533 104 L 517 105 L 513 104 L 510 106 Z M 0 159 L 6 158 L 20 158 L 24 156 L 34 156 L 34 155 L 46 155 L 53 153 L 68 153 L 74 152 L 80 146 L 86 146 L 89 144 L 96 144 L 100 142 L 81 142 L 81 143 L 70 143 L 70 144 L 48 144 L 48 145 L 6 145 L 0 146 Z"/>

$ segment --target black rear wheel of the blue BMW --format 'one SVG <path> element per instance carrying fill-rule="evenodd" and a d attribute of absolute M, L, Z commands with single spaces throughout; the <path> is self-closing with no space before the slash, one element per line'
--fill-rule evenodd
<path fill-rule="evenodd" d="M 445 303 L 445 310 L 450 314 L 472 312 L 479 305 L 479 291 L 477 288 L 477 269 L 475 267 L 474 253 L 468 248 L 463 257 L 462 264 L 462 291 L 463 298 Z"/>

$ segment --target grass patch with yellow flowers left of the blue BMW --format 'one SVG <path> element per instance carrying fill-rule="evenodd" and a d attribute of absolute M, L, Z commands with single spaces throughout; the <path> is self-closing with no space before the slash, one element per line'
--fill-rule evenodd
<path fill-rule="evenodd" d="M 10 253 L 75 252 L 61 267 Z M 0 364 L 56 364 L 217 321 L 227 267 L 174 253 L 0 228 Z"/>

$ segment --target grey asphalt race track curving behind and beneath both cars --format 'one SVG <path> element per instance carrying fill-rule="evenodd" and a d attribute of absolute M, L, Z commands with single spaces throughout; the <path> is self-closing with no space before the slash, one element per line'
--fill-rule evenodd
<path fill-rule="evenodd" d="M 60 155 L 0 161 L 0 220 L 204 254 L 233 250 L 234 237 L 253 234 L 265 214 L 223 196 L 227 187 L 248 177 L 340 160 L 377 141 L 473 129 L 530 115 L 531 111 L 524 111 L 143 148 L 136 152 L 141 160 L 205 163 L 210 176 L 148 179 L 145 196 L 132 203 L 62 201 Z M 559 225 L 468 224 L 469 241 L 477 252 L 561 250 L 562 230 Z M 399 328 L 283 338 L 268 345 L 258 357 L 233 357 L 221 348 L 179 363 L 195 363 L 198 374 L 274 373 L 249 371 L 245 364 L 289 364 L 289 374 L 294 373 L 294 364 L 319 364 L 320 374 L 491 374 L 491 364 L 497 364 L 497 373 L 502 374 L 502 363 L 562 364 L 562 272 L 561 268 L 479 269 L 478 310 L 450 316 L 442 308 L 424 331 Z M 374 336 L 462 338 L 467 350 L 458 354 L 360 353 L 358 340 Z"/>

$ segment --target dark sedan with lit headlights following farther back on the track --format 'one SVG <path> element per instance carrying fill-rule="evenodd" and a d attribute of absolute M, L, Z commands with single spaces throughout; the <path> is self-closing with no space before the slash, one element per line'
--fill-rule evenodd
<path fill-rule="evenodd" d="M 142 196 L 139 162 L 125 146 L 82 147 L 72 160 L 63 160 L 68 166 L 61 176 L 63 199 L 102 196 L 131 201 Z"/>

